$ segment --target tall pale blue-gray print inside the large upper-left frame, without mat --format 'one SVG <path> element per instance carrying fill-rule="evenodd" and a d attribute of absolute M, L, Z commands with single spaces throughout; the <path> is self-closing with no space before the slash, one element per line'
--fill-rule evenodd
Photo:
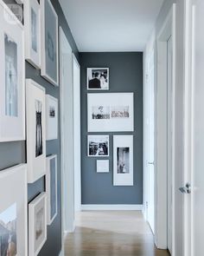
<path fill-rule="evenodd" d="M 18 116 L 17 44 L 4 34 L 5 115 Z"/>

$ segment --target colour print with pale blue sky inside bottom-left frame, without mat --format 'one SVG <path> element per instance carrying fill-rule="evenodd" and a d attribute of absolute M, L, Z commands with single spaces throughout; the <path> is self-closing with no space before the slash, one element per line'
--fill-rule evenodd
<path fill-rule="evenodd" d="M 16 203 L 0 213 L 0 255 L 17 255 Z"/>

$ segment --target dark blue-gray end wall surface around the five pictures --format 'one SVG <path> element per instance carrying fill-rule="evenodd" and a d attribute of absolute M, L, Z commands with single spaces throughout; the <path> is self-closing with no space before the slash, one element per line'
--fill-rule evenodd
<path fill-rule="evenodd" d="M 82 204 L 143 203 L 143 53 L 80 53 Z M 86 68 L 110 68 L 110 90 L 134 92 L 134 133 L 109 133 L 110 173 L 96 173 L 96 158 L 87 157 Z M 91 91 L 89 91 L 91 92 Z M 99 92 L 99 91 L 92 91 Z M 90 133 L 91 134 L 91 133 Z M 103 133 L 99 133 L 103 134 Z M 105 134 L 108 134 L 105 132 Z M 113 187 L 113 135 L 134 135 L 134 186 Z"/>

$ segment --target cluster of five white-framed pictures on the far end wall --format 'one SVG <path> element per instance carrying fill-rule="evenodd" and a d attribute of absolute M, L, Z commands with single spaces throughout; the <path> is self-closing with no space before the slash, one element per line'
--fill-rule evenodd
<path fill-rule="evenodd" d="M 87 90 L 108 90 L 109 69 L 87 68 Z M 133 93 L 87 94 L 88 157 L 110 156 L 106 132 L 134 131 Z M 109 173 L 109 160 L 97 160 L 97 173 Z M 113 186 L 133 186 L 133 135 L 113 135 Z"/>

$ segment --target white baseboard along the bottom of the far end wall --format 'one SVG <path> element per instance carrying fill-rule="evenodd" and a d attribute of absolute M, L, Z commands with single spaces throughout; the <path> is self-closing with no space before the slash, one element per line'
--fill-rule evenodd
<path fill-rule="evenodd" d="M 81 205 L 82 211 L 142 211 L 143 205 Z"/>

